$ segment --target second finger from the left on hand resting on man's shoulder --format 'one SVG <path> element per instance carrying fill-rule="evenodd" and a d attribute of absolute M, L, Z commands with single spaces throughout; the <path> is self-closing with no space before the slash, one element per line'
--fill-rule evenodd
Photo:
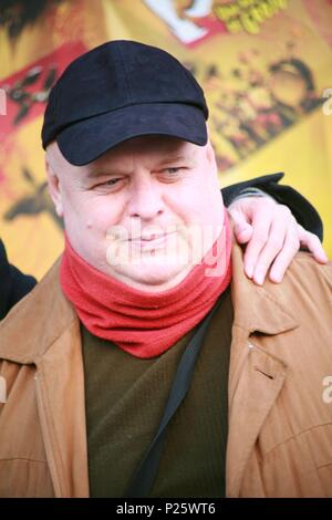
<path fill-rule="evenodd" d="M 252 237 L 246 248 L 243 263 L 248 278 L 253 277 L 258 257 L 268 241 L 272 217 L 270 212 L 257 211 L 252 217 Z"/>

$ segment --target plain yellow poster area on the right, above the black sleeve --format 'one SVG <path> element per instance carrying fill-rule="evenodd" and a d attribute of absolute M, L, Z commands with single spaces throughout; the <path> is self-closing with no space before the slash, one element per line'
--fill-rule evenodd
<path fill-rule="evenodd" d="M 222 186 L 257 174 L 283 171 L 282 184 L 298 189 L 319 210 L 324 225 L 324 248 L 332 258 L 332 115 L 317 111 L 276 142 L 220 176 Z M 271 168 L 271 165 L 273 167 Z"/>

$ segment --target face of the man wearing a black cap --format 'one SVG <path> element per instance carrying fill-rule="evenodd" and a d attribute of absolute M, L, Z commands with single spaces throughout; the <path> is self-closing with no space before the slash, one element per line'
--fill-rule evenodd
<path fill-rule="evenodd" d="M 222 227 L 209 144 L 138 137 L 79 167 L 53 143 L 48 173 L 75 251 L 97 270 L 141 290 L 179 283 Z"/>

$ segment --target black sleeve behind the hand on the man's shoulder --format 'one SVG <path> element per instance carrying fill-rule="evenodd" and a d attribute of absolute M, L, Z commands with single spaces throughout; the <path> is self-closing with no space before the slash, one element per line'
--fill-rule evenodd
<path fill-rule="evenodd" d="M 279 184 L 283 174 L 264 175 L 243 183 L 234 184 L 221 189 L 224 204 L 229 206 L 246 188 L 259 188 L 271 195 L 277 202 L 284 204 L 292 211 L 298 222 L 308 231 L 323 240 L 323 223 L 314 207 L 294 188 Z"/>

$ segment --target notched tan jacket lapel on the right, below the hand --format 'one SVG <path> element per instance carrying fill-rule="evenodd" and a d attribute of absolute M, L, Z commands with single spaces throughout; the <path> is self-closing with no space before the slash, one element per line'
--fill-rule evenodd
<path fill-rule="evenodd" d="M 280 334 L 298 326 L 281 300 L 280 285 L 257 287 L 243 274 L 242 253 L 232 251 L 235 321 L 229 367 L 227 496 L 240 495 L 243 472 L 261 427 L 287 377 L 287 364 L 259 345 L 255 332 Z"/>

